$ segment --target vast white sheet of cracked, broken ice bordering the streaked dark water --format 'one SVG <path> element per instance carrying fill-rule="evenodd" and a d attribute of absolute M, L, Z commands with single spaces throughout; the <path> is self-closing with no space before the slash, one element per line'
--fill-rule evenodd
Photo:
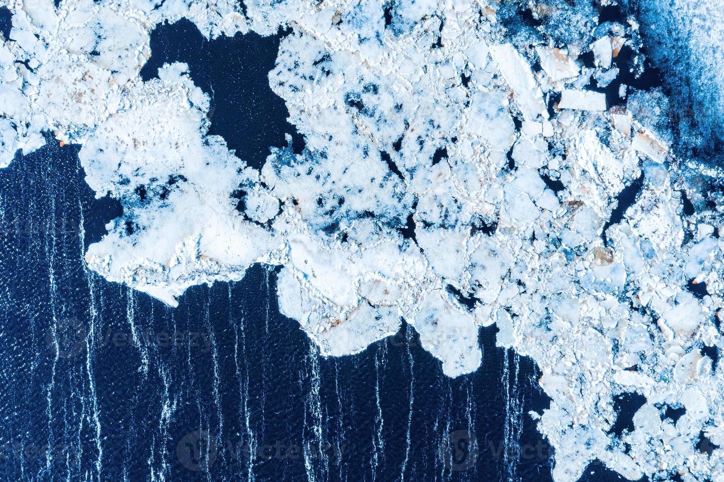
<path fill-rule="evenodd" d="M 176 305 L 282 266 L 279 306 L 323 355 L 402 317 L 449 376 L 479 367 L 497 324 L 542 371 L 550 410 L 531 416 L 556 481 L 594 459 L 724 480 L 722 173 L 675 155 L 633 17 L 577 0 L 1 3 L 0 163 L 43 130 L 82 145 L 88 185 L 124 208 L 90 269 Z M 153 28 L 184 17 L 206 38 L 287 29 L 269 85 L 302 153 L 252 169 L 207 134 L 185 64 L 141 80 Z"/>

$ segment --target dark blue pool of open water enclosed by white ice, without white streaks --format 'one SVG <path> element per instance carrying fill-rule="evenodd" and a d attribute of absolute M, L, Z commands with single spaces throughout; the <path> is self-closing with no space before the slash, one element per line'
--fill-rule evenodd
<path fill-rule="evenodd" d="M 151 34 L 151 59 L 140 72 L 143 80 L 158 77 L 159 67 L 188 64 L 195 85 L 211 99 L 209 135 L 220 135 L 236 155 L 261 168 L 270 147 L 285 147 L 285 134 L 300 153 L 304 140 L 287 122 L 284 101 L 269 88 L 282 35 L 256 33 L 206 41 L 195 25 L 183 19 L 159 25 Z"/>

